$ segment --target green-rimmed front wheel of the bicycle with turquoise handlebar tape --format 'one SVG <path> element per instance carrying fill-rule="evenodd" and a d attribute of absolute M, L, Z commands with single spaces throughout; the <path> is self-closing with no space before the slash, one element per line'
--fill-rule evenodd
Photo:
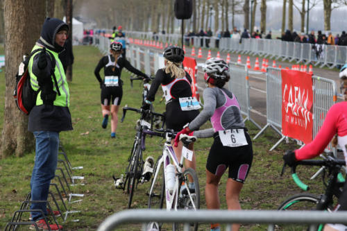
<path fill-rule="evenodd" d="M 319 198 L 312 194 L 296 194 L 291 196 L 285 202 L 283 202 L 278 210 L 316 210 L 316 206 L 319 203 Z M 307 224 L 286 224 L 286 225 L 269 225 L 270 230 L 310 230 L 310 225 Z M 322 230 L 323 225 L 319 225 L 316 230 Z"/>

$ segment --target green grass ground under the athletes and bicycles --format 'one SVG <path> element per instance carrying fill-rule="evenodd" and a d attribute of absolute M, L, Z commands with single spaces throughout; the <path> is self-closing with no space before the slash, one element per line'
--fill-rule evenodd
<path fill-rule="evenodd" d="M 3 47 L 0 47 L 0 54 Z M 67 151 L 73 166 L 83 166 L 75 170 L 74 175 L 84 176 L 84 186 L 71 187 L 75 194 L 85 194 L 82 202 L 69 205 L 71 210 L 81 210 L 80 214 L 73 214 L 63 223 L 64 230 L 96 230 L 107 216 L 126 209 L 128 195 L 115 189 L 112 175 L 120 176 L 127 165 L 128 154 L 135 135 L 135 121 L 139 118 L 135 112 L 128 112 L 124 123 L 119 123 L 117 138 L 110 138 L 110 128 L 101 128 L 101 106 L 99 83 L 94 77 L 94 67 L 101 58 L 101 53 L 93 46 L 74 46 L 74 76 L 69 84 L 71 93 L 71 116 L 74 130 L 62 132 L 61 142 Z M 141 102 L 141 83 L 135 83 L 130 88 L 129 75 L 124 71 L 124 96 L 121 106 L 129 105 L 139 108 Z M 4 95 L 4 68 L 0 72 L 0 94 Z M 164 111 L 164 103 L 154 103 L 156 112 Z M 0 128 L 3 127 L 3 104 L 0 97 Z M 121 117 L 121 110 L 119 111 Z M 209 127 L 206 124 L 204 128 Z M 259 130 L 251 123 L 246 123 L 251 137 Z M 269 152 L 269 148 L 278 141 L 279 137 L 271 130 L 253 142 L 254 158 L 251 172 L 241 194 L 243 209 L 276 209 L 287 196 L 301 191 L 291 180 L 289 169 L 284 176 L 280 176 L 282 169 L 282 154 L 286 149 L 297 147 L 295 144 L 281 144 L 276 151 Z M 155 160 L 162 151 L 162 140 L 159 138 L 146 139 L 144 157 L 152 155 Z M 197 173 L 201 185 L 201 208 L 205 208 L 205 162 L 212 139 L 199 139 L 195 144 Z M 0 230 L 10 221 L 12 214 L 19 209 L 21 201 L 30 190 L 31 171 L 35 153 L 28 153 L 21 158 L 8 157 L 0 160 Z M 303 169 L 302 178 L 312 176 L 317 169 Z M 309 182 L 311 192 L 321 191 L 321 180 Z M 220 185 L 221 208 L 226 209 L 225 201 L 226 176 Z M 139 185 L 133 199 L 134 208 L 146 208 L 146 190 L 149 183 Z M 78 199 L 78 198 L 76 198 Z M 79 222 L 72 222 L 79 219 Z M 58 220 L 61 221 L 61 220 Z M 209 224 L 201 224 L 199 230 L 208 230 Z M 130 224 L 119 230 L 139 230 L 140 225 Z M 170 230 L 170 225 L 166 225 Z M 242 225 L 242 230 L 265 230 L 265 225 Z"/>

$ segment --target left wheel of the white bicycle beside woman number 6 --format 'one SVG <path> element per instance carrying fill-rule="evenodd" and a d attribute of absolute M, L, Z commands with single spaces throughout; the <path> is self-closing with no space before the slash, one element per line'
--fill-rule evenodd
<path fill-rule="evenodd" d="M 158 157 L 158 160 L 155 163 L 153 178 L 151 181 L 151 185 L 149 187 L 148 193 L 149 193 L 149 208 L 150 209 L 162 209 L 164 204 L 165 180 L 164 180 L 164 166 L 163 164 L 159 163 L 161 157 L 162 155 Z M 156 178 L 155 178 L 155 174 L 157 174 Z"/>

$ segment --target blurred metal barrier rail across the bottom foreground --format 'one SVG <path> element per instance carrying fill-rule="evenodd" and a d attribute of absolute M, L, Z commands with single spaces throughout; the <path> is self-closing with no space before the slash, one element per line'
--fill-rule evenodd
<path fill-rule="evenodd" d="M 325 211 L 283 211 L 276 210 L 197 210 L 197 211 L 164 211 L 162 209 L 132 209 L 124 210 L 109 216 L 103 221 L 97 231 L 115 230 L 125 223 L 142 223 L 146 231 L 147 223 L 184 223 L 189 230 L 189 223 L 230 223 L 271 224 L 300 223 L 310 224 L 310 230 L 321 223 L 346 223 L 347 212 L 329 213 Z M 271 229 L 269 229 L 271 230 Z"/>

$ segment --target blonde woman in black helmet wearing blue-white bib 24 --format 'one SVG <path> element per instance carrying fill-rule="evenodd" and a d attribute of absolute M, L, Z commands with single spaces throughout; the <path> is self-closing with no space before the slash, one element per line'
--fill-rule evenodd
<path fill-rule="evenodd" d="M 155 74 L 155 79 L 146 97 L 147 104 L 144 105 L 144 108 L 149 109 L 151 102 L 155 100 L 155 93 L 158 91 L 158 87 L 162 85 L 166 101 L 165 123 L 167 129 L 178 132 L 185 124 L 198 115 L 200 105 L 195 98 L 192 98 L 192 78 L 182 66 L 182 62 L 185 59 L 183 49 L 178 46 L 168 46 L 164 49 L 163 55 L 165 67 L 158 69 Z M 189 101 L 189 105 L 185 104 L 185 101 Z M 179 142 L 178 146 L 174 146 L 174 152 L 178 160 L 180 160 L 182 146 L 181 142 Z M 193 144 L 189 145 L 189 149 L 194 150 Z M 186 161 L 185 165 L 194 170 L 196 169 L 194 155 L 192 162 Z M 194 182 L 190 183 L 194 184 Z"/>

